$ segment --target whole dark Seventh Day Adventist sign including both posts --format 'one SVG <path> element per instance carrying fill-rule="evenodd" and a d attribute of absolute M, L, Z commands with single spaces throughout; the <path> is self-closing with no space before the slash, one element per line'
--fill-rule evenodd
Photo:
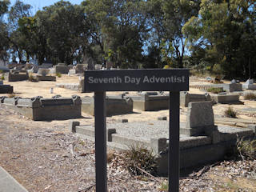
<path fill-rule="evenodd" d="M 189 70 L 87 70 L 84 90 L 94 91 L 96 192 L 106 192 L 106 91 L 170 91 L 169 191 L 179 189 L 179 91 L 189 90 Z"/>

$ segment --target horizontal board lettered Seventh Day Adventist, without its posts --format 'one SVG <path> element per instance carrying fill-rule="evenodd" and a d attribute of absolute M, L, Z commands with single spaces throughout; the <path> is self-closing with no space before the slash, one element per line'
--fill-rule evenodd
<path fill-rule="evenodd" d="M 188 70 L 87 70 L 85 91 L 188 90 Z"/>

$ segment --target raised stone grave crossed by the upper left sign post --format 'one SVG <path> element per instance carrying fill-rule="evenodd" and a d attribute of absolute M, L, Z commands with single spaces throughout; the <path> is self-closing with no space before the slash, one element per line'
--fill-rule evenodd
<path fill-rule="evenodd" d="M 82 112 L 94 115 L 94 98 L 82 98 Z M 123 95 L 106 96 L 106 115 L 131 114 L 133 113 L 133 100 L 124 98 Z"/>

